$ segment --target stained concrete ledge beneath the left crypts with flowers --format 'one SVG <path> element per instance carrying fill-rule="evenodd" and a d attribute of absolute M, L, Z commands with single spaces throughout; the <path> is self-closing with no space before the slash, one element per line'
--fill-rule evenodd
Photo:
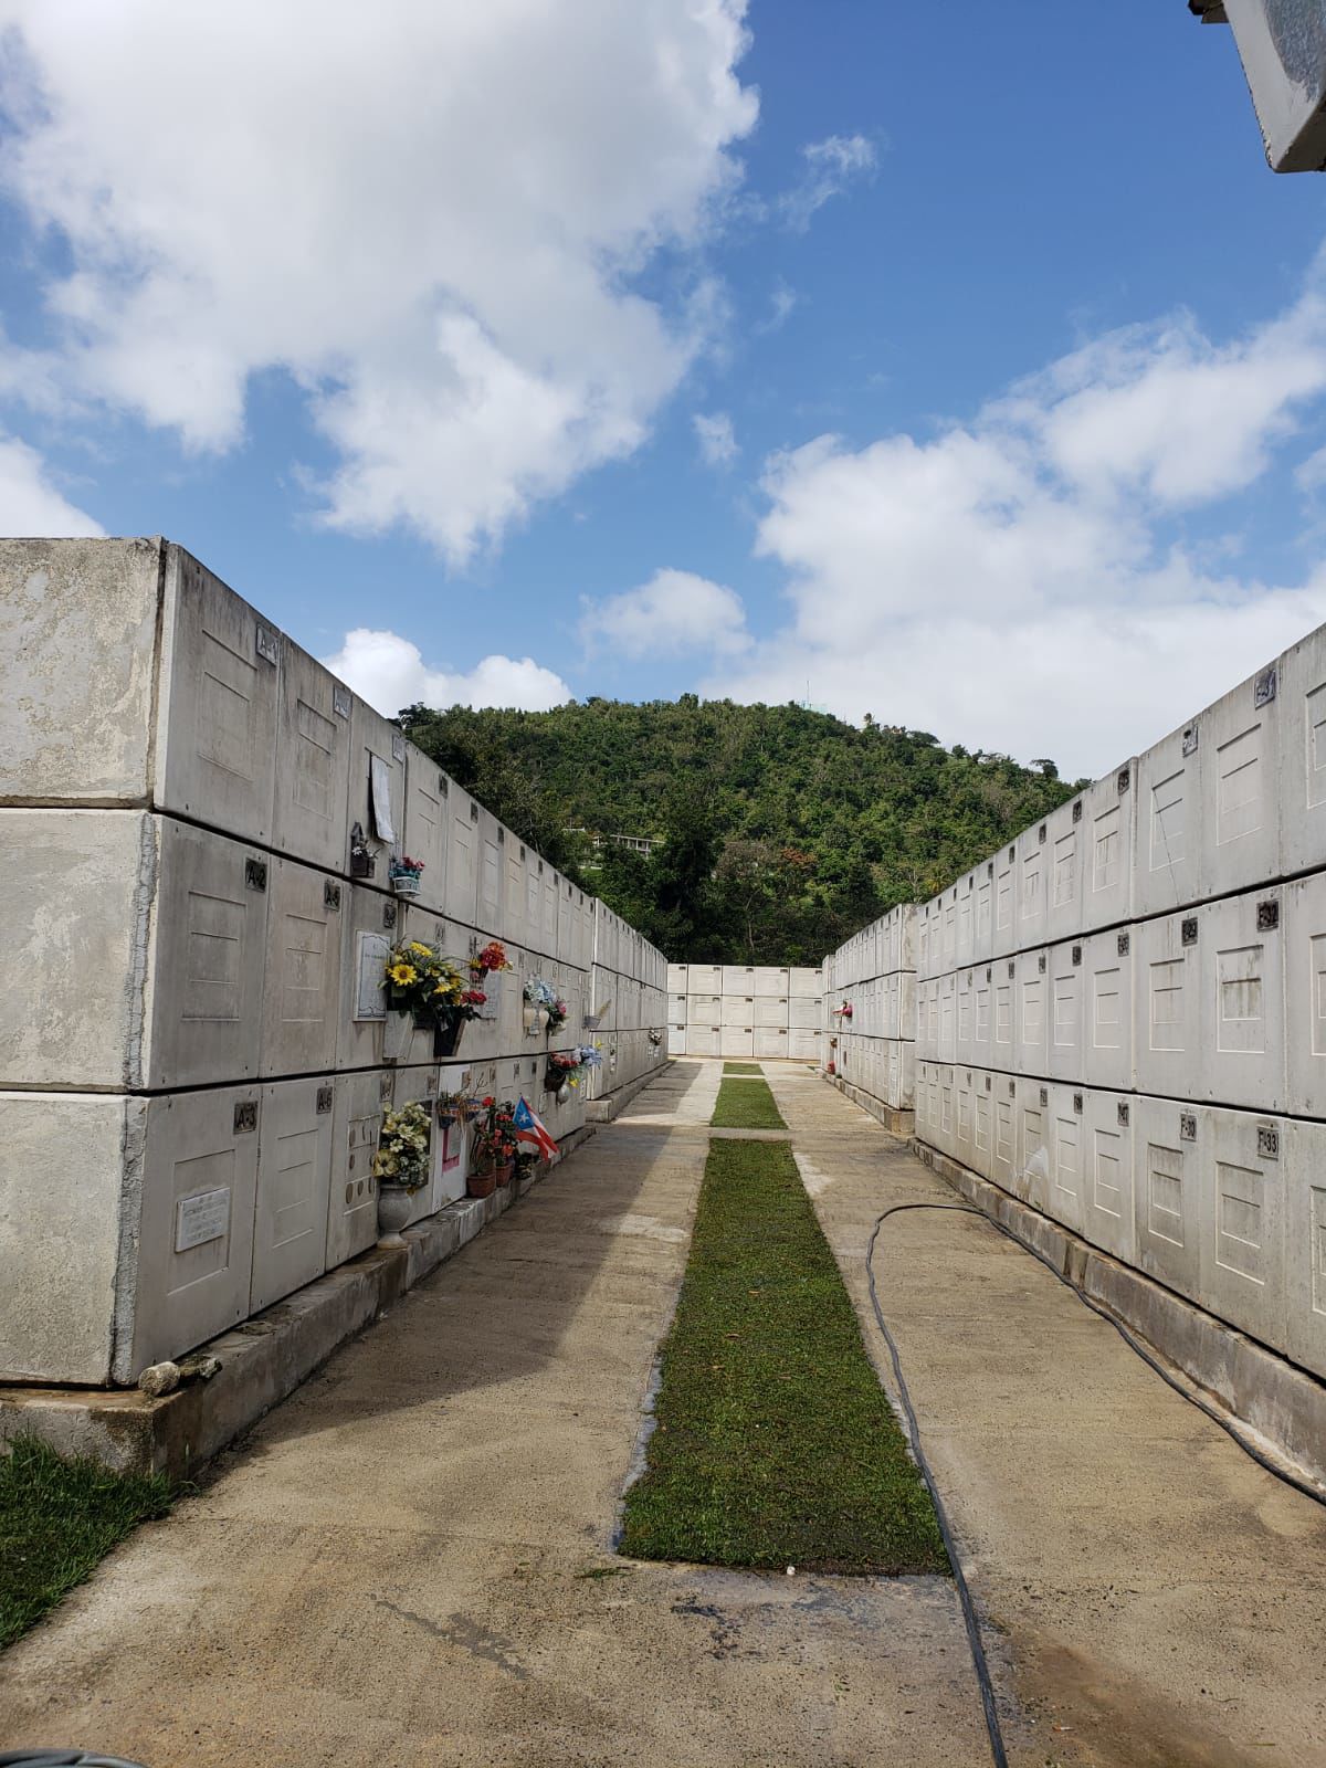
<path fill-rule="evenodd" d="M 552 1170 L 592 1133 L 587 1124 L 566 1135 Z M 95 1455 L 122 1473 L 184 1480 L 537 1181 L 539 1174 L 492 1197 L 447 1204 L 405 1229 L 403 1248 L 373 1246 L 212 1338 L 200 1347 L 221 1361 L 210 1381 L 189 1381 L 157 1400 L 136 1388 L 0 1388 L 0 1441 L 32 1434 L 65 1455 Z"/>

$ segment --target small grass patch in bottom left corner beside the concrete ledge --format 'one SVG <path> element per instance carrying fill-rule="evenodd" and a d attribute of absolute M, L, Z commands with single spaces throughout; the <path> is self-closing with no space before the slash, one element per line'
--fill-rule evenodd
<path fill-rule="evenodd" d="M 0 1648 L 12 1644 L 140 1522 L 164 1517 L 164 1475 L 111 1473 L 35 1437 L 0 1455 Z"/>

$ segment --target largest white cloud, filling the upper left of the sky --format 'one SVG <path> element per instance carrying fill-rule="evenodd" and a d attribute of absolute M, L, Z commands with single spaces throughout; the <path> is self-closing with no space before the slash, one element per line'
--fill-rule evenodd
<path fill-rule="evenodd" d="M 631 279 L 739 177 L 743 16 L 0 0 L 4 184 L 71 263 L 11 380 L 228 449 L 286 370 L 339 458 L 325 522 L 463 560 L 635 449 L 721 309 Z"/>

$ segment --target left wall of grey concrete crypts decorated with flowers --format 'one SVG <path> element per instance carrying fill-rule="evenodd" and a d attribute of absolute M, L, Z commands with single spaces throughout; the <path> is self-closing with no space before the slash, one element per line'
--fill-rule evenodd
<path fill-rule="evenodd" d="M 573 1135 L 665 1059 L 665 960 L 180 548 L 0 560 L 0 1379 L 124 1383 L 373 1245 L 389 1112 L 412 1220 L 458 1101 Z M 424 953 L 465 1017 L 398 1010 Z"/>

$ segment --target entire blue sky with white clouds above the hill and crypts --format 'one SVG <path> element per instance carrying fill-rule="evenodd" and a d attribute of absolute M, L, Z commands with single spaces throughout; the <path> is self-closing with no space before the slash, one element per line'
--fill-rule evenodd
<path fill-rule="evenodd" d="M 1326 184 L 1225 28 L 479 14 L 0 0 L 5 532 L 166 532 L 387 711 L 808 691 L 1071 773 L 1326 619 Z"/>

